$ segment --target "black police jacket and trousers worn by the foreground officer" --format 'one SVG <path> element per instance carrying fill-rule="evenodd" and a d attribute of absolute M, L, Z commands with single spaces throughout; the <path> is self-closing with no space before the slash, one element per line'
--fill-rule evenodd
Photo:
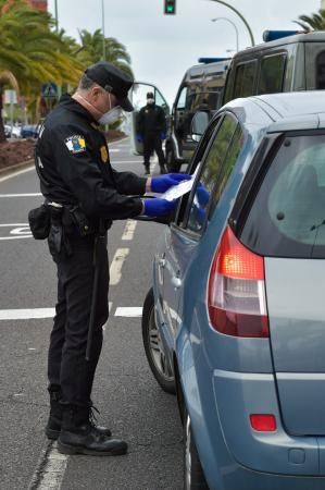
<path fill-rule="evenodd" d="M 85 359 L 93 290 L 95 242 L 100 228 L 142 209 L 146 179 L 112 169 L 104 135 L 92 115 L 63 96 L 48 115 L 36 145 L 40 187 L 52 210 L 49 247 L 58 267 L 57 315 L 50 339 L 49 391 L 61 402 L 89 406 L 108 319 L 109 265 L 101 254 L 92 344 Z M 60 205 L 63 208 L 60 208 Z M 82 218 L 80 218 L 82 217 Z M 105 248 L 105 240 L 104 248 Z"/>

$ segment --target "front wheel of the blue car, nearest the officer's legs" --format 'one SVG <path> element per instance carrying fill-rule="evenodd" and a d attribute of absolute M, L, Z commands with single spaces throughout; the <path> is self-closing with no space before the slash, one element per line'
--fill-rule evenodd
<path fill-rule="evenodd" d="M 161 335 L 155 324 L 154 298 L 151 289 L 143 304 L 142 340 L 150 369 L 161 388 L 167 393 L 175 393 L 175 379 L 163 350 Z"/>

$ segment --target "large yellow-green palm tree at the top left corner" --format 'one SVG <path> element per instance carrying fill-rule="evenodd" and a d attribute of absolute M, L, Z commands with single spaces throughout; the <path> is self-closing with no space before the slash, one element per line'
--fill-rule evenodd
<path fill-rule="evenodd" d="M 75 84 L 82 64 L 72 56 L 70 46 L 53 27 L 51 16 L 26 5 L 23 0 L 0 0 L 0 70 L 10 72 L 21 93 L 35 99 L 49 81 Z M 0 84 L 0 99 L 9 78 Z M 0 142 L 3 140 L 0 114 Z"/>

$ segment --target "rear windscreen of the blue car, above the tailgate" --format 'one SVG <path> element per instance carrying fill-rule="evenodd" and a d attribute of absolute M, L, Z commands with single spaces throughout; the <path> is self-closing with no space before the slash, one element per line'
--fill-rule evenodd
<path fill-rule="evenodd" d="M 263 256 L 325 258 L 325 134 L 285 138 L 240 238 Z"/>

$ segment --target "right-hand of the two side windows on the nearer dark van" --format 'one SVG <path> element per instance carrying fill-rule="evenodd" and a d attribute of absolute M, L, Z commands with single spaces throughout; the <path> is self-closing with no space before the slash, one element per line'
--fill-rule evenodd
<path fill-rule="evenodd" d="M 285 53 L 262 59 L 258 94 L 283 91 L 286 59 Z"/>

